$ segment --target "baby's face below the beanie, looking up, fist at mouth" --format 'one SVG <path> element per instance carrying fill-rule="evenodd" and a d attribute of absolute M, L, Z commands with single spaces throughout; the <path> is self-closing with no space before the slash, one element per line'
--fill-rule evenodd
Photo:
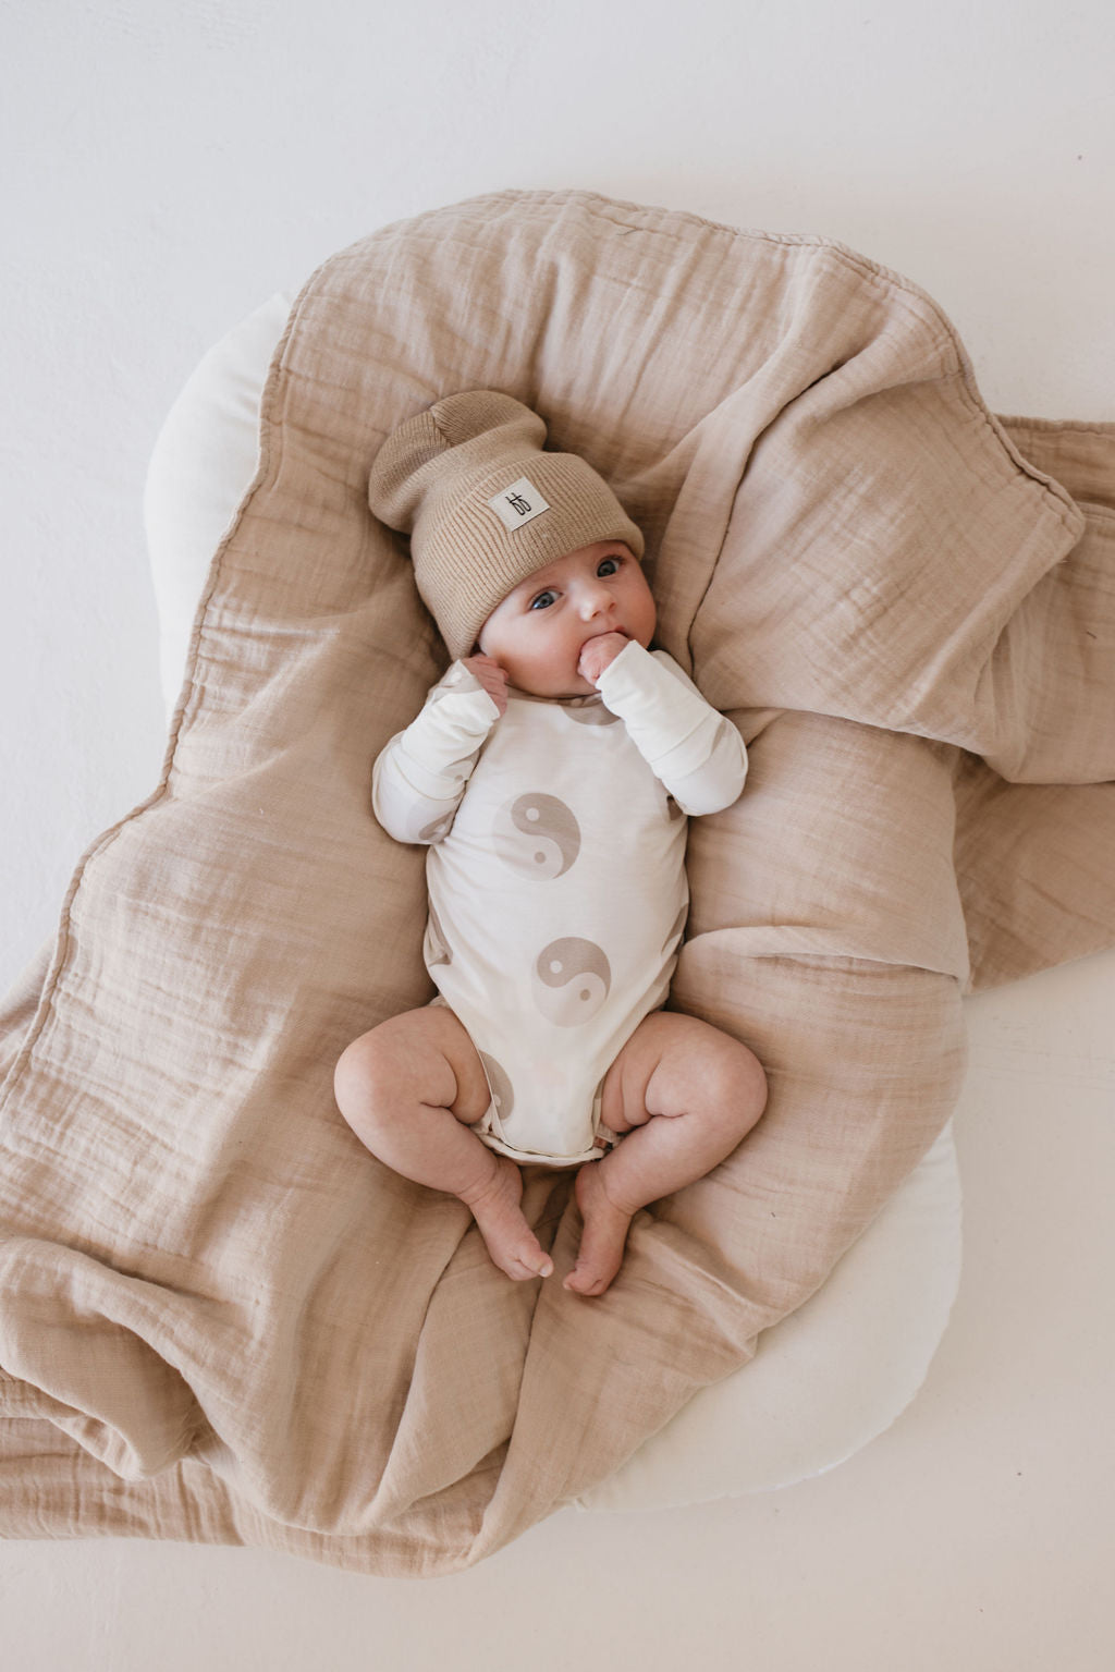
<path fill-rule="evenodd" d="M 480 629 L 480 649 L 518 691 L 583 697 L 595 691 L 577 672 L 588 639 L 619 632 L 647 649 L 654 622 L 639 558 L 622 540 L 598 540 L 545 563 L 508 592 Z"/>

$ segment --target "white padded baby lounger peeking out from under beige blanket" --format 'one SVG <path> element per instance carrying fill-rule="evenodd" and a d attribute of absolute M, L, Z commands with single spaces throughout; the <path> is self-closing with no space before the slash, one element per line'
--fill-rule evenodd
<path fill-rule="evenodd" d="M 272 296 L 206 354 L 154 448 L 145 518 L 167 711 L 209 560 L 256 473 L 259 400 L 289 306 Z M 786 1486 L 864 1446 L 914 1398 L 944 1333 L 960 1219 L 950 1124 L 817 1294 L 761 1338 L 754 1361 L 697 1393 L 582 1505 L 634 1510 Z"/>

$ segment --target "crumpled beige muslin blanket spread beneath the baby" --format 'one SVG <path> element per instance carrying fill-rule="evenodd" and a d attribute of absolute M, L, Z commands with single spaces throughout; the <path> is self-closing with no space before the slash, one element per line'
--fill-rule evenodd
<path fill-rule="evenodd" d="M 456 390 L 538 408 L 647 533 L 659 644 L 751 749 L 694 821 L 672 1003 L 771 1104 L 567 1294 L 341 1120 L 423 1003 L 421 849 L 369 769 L 445 655 L 369 461 Z M 944 1124 L 961 995 L 1115 941 L 1115 426 L 996 421 L 939 309 L 817 237 L 587 192 L 386 227 L 308 283 L 164 777 L 8 1002 L 0 1525 L 473 1563 L 826 1277 Z"/>

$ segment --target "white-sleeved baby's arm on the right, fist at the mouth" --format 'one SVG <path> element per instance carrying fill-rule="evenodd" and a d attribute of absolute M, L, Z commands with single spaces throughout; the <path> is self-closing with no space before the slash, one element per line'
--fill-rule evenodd
<path fill-rule="evenodd" d="M 630 640 L 597 689 L 682 813 L 717 813 L 739 798 L 747 776 L 744 739 L 665 650 Z"/>

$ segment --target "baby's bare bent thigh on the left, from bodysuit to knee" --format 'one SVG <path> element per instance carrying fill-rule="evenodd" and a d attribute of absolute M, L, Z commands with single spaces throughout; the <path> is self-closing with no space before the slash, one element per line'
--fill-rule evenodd
<path fill-rule="evenodd" d="M 448 1005 L 405 1010 L 361 1033 L 336 1065 L 334 1088 L 343 1114 L 353 1100 L 418 1102 L 448 1109 L 466 1125 L 491 1102 L 480 1053 Z"/>

